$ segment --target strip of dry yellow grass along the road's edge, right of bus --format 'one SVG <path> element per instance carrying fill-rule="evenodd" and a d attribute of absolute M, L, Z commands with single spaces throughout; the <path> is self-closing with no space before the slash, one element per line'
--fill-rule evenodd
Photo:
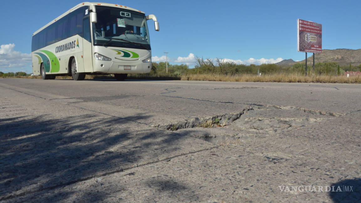
<path fill-rule="evenodd" d="M 331 75 L 300 75 L 300 74 L 269 74 L 269 75 L 220 75 L 220 74 L 190 74 L 182 75 L 181 80 L 195 81 L 227 81 L 227 82 L 317 82 L 317 83 L 361 83 L 361 76 L 331 76 Z"/>

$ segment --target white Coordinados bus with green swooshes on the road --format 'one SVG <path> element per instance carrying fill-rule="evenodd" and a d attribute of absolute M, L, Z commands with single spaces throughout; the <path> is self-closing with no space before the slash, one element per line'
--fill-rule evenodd
<path fill-rule="evenodd" d="M 149 73 L 152 68 L 147 20 L 154 15 L 118 4 L 84 2 L 71 8 L 32 36 L 34 74 L 43 79 L 71 75 Z"/>

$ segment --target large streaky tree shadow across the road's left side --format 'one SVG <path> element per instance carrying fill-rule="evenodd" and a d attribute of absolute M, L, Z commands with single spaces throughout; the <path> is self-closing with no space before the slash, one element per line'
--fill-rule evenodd
<path fill-rule="evenodd" d="M 121 172 L 142 161 L 158 159 L 164 151 L 178 150 L 178 141 L 184 136 L 149 126 L 138 131 L 127 126 L 130 122 L 144 126 L 136 121 L 148 117 L 81 115 L 49 119 L 43 115 L 1 119 L 0 200 L 19 197 L 36 202 L 36 193 Z M 49 193 L 46 199 L 57 199 L 57 195 Z M 62 199 L 72 195 L 62 194 Z"/>

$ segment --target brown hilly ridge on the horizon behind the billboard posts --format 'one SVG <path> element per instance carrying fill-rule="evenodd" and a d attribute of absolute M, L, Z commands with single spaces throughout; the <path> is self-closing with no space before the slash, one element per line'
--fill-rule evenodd
<path fill-rule="evenodd" d="M 308 53 L 307 64 L 312 64 L 312 53 Z M 295 63 L 304 63 L 303 61 L 293 61 L 287 59 L 276 63 L 280 66 L 292 66 Z M 315 63 L 318 62 L 338 62 L 340 65 L 360 65 L 361 49 L 323 49 L 322 53 L 315 54 Z"/>

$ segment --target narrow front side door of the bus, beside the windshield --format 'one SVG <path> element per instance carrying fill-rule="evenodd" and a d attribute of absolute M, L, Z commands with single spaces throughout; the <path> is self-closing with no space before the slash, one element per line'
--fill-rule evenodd
<path fill-rule="evenodd" d="M 93 72 L 93 54 L 90 34 L 89 16 L 83 18 L 83 61 L 84 72 Z"/>

